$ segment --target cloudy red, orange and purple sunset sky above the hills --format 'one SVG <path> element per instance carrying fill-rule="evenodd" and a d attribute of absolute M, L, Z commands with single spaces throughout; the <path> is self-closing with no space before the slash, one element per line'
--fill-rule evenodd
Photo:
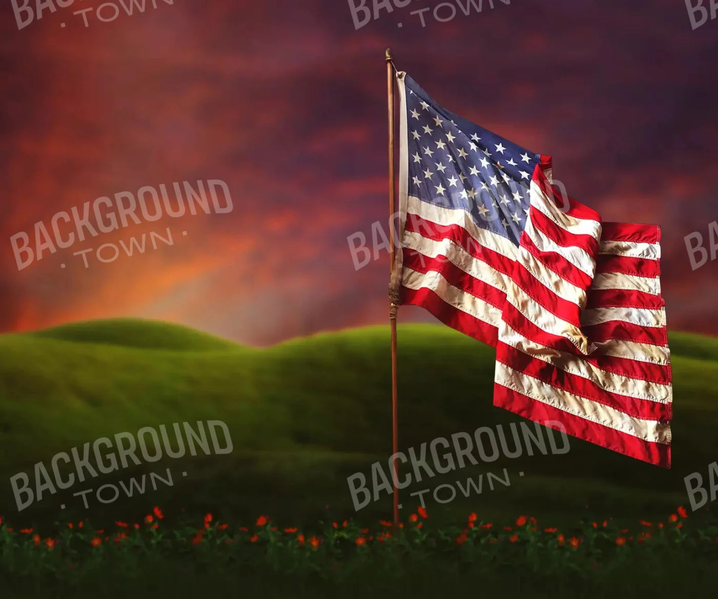
<path fill-rule="evenodd" d="M 20 30 L 0 7 L 0 330 L 136 316 L 266 345 L 387 322 L 388 256 L 355 271 L 347 238 L 388 215 L 391 46 L 442 106 L 551 154 L 603 220 L 661 225 L 668 328 L 718 333 L 718 261 L 691 271 L 684 243 L 718 219 L 718 19 L 691 30 L 683 0 L 494 0 L 447 22 L 426 11 L 426 27 L 410 12 L 439 3 L 415 0 L 358 30 L 345 0 L 73 15 L 101 4 Z M 9 239 L 34 246 L 34 223 L 197 180 L 225 182 L 232 212 L 131 224 L 17 269 Z M 167 228 L 174 246 L 73 256 Z"/>

